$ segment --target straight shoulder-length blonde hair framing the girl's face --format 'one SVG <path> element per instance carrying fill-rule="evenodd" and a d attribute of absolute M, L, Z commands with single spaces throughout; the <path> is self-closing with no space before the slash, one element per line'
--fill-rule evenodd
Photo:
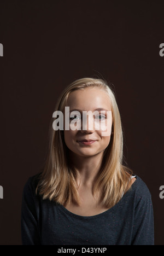
<path fill-rule="evenodd" d="M 93 185 L 93 195 L 101 191 L 101 202 L 106 207 L 114 206 L 122 197 L 123 193 L 130 188 L 130 176 L 132 170 L 122 165 L 123 160 L 123 135 L 121 118 L 115 95 L 109 88 L 107 82 L 102 79 L 82 78 L 75 80 L 67 86 L 58 98 L 55 110 L 63 112 L 69 94 L 75 90 L 84 90 L 89 86 L 94 86 L 104 90 L 112 102 L 112 135 L 110 143 L 104 150 L 101 170 Z M 65 144 L 63 131 L 50 127 L 50 143 L 48 158 L 40 176 L 40 181 L 36 193 L 43 196 L 43 199 L 54 200 L 61 205 L 75 202 L 80 205 L 76 178 L 78 170 L 72 166 L 68 158 L 68 148 Z"/>

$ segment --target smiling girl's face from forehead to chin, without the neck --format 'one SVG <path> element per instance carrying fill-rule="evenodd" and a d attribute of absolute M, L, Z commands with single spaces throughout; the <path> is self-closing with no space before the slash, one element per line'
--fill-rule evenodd
<path fill-rule="evenodd" d="M 110 135 L 103 136 L 107 131 L 107 120 L 109 119 L 109 116 L 107 119 L 107 111 L 112 113 L 110 98 L 106 92 L 95 87 L 73 91 L 69 94 L 67 107 L 69 107 L 70 114 L 70 129 L 64 129 L 64 136 L 68 149 L 79 156 L 103 154 L 110 142 Z M 72 112 L 73 110 L 74 112 Z M 90 111 L 87 118 L 84 118 L 83 111 L 85 113 Z M 96 116 L 92 115 L 93 112 L 96 113 Z M 112 116 L 110 115 L 111 123 Z M 73 130 L 75 126 L 78 127 L 78 130 Z"/>

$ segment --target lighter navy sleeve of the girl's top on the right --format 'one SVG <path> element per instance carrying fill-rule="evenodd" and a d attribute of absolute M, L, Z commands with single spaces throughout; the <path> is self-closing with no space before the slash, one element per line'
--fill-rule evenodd
<path fill-rule="evenodd" d="M 154 214 L 148 189 L 138 199 L 134 213 L 132 245 L 154 245 Z"/>

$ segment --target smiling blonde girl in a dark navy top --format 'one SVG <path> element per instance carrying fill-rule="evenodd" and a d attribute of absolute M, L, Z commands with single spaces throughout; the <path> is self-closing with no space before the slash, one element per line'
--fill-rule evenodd
<path fill-rule="evenodd" d="M 107 83 L 76 80 L 54 113 L 63 115 L 58 128 L 52 118 L 44 170 L 24 188 L 23 245 L 154 245 L 151 195 L 122 165 L 121 119 Z"/>

